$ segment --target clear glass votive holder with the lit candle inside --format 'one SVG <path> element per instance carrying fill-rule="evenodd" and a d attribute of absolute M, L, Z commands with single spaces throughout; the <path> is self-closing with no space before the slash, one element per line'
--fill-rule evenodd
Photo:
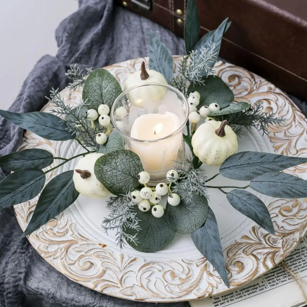
<path fill-rule="evenodd" d="M 185 96 L 167 84 L 148 83 L 123 91 L 113 103 L 111 122 L 125 145 L 141 159 L 150 183 L 166 180 L 166 173 L 185 155 L 182 130 L 188 120 Z"/>

